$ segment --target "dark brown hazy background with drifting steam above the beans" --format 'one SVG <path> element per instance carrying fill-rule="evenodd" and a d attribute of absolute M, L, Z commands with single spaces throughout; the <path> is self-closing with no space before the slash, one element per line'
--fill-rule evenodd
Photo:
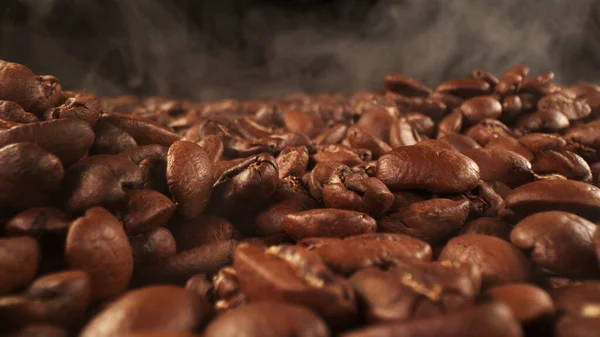
<path fill-rule="evenodd" d="M 0 59 L 65 88 L 193 99 L 429 85 L 525 63 L 600 82 L 596 0 L 2 0 Z"/>

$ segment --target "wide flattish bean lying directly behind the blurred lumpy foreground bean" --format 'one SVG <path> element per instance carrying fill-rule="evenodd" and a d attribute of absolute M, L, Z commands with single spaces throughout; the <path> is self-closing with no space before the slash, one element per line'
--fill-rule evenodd
<path fill-rule="evenodd" d="M 329 268 L 344 275 L 369 267 L 387 268 L 403 260 L 431 260 L 431 247 L 426 242 L 403 234 L 309 238 L 298 245 L 315 251 Z"/>

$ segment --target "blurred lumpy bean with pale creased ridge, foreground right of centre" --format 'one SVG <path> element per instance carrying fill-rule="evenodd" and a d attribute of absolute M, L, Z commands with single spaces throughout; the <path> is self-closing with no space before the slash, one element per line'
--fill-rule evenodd
<path fill-rule="evenodd" d="M 350 278 L 368 322 L 430 317 L 472 305 L 480 284 L 469 267 L 404 262 L 389 271 L 363 269 Z M 477 273 L 477 271 L 475 271 Z"/>

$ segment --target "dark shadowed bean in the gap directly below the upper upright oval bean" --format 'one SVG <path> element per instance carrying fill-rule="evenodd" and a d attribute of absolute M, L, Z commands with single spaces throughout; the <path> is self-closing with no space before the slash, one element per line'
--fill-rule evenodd
<path fill-rule="evenodd" d="M 235 239 L 239 236 L 229 221 L 214 215 L 200 215 L 189 220 L 176 219 L 169 225 L 169 228 L 175 237 L 179 252 L 214 241 Z"/>

